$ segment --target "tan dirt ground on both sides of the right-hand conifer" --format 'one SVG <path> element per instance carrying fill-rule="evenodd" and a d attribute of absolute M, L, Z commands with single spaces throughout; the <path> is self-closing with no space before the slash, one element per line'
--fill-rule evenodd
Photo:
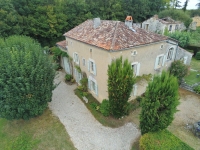
<path fill-rule="evenodd" d="M 177 107 L 178 112 L 175 114 L 175 119 L 168 127 L 179 139 L 190 145 L 195 150 L 200 150 L 200 139 L 195 137 L 191 130 L 186 128 L 186 124 L 193 124 L 200 121 L 200 95 L 179 89 L 180 104 Z M 139 127 L 140 110 L 136 109 L 126 119 L 126 121 L 134 122 Z M 139 139 L 134 144 L 138 148 Z"/>

